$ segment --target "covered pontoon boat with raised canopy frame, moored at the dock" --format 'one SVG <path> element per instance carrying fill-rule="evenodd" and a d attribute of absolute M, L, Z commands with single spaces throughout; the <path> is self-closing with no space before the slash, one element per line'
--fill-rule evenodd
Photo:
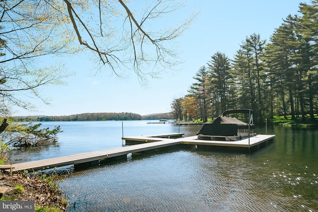
<path fill-rule="evenodd" d="M 198 140 L 239 141 L 256 136 L 253 110 L 226 110 L 221 116 L 204 123 L 197 133 Z"/>

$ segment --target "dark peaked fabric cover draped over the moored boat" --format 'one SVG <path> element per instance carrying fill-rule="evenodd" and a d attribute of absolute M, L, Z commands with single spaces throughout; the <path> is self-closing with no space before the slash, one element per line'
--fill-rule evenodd
<path fill-rule="evenodd" d="M 254 129 L 250 125 L 250 129 Z M 248 124 L 236 118 L 219 116 L 210 122 L 204 123 L 197 135 L 205 136 L 237 136 L 238 129 L 248 129 Z"/>

